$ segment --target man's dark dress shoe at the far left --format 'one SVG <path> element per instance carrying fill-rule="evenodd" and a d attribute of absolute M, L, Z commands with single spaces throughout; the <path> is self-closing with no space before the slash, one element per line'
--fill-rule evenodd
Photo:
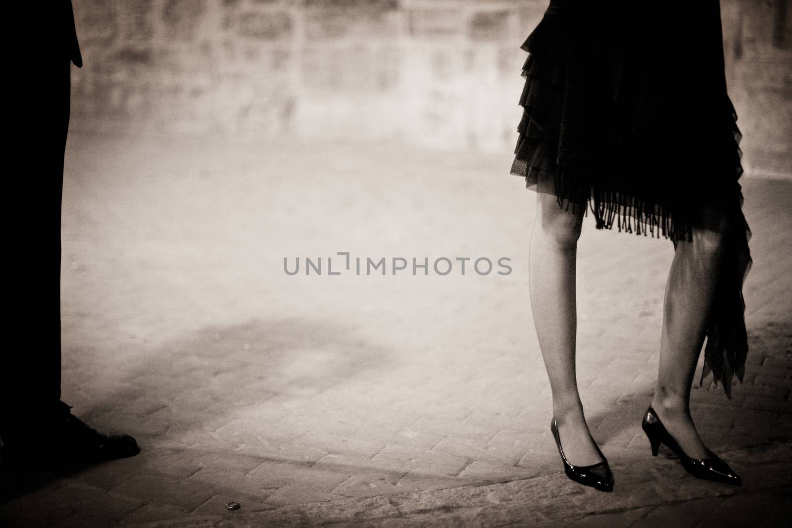
<path fill-rule="evenodd" d="M 2 435 L 3 458 L 41 464 L 101 462 L 140 452 L 129 435 L 105 435 L 84 424 L 63 402 Z"/>

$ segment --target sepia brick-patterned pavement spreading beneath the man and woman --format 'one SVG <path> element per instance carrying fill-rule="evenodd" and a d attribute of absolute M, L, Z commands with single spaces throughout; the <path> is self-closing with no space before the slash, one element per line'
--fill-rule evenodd
<path fill-rule="evenodd" d="M 780 526 L 792 488 L 792 183 L 742 180 L 747 372 L 729 401 L 709 380 L 699 389 L 699 362 L 692 396 L 703 439 L 744 488 L 650 456 L 640 420 L 672 244 L 586 218 L 578 378 L 615 470 L 602 494 L 565 478 L 550 435 L 527 289 L 535 195 L 510 163 L 379 144 L 71 138 L 63 400 L 143 452 L 68 472 L 3 469 L 0 519 Z M 293 268 L 298 256 L 322 257 L 322 275 L 287 275 L 284 257 Z M 356 257 L 383 256 L 387 275 L 353 272 Z M 470 257 L 466 275 L 434 272 L 443 256 Z M 393 257 L 428 257 L 428 276 L 392 275 Z M 478 275 L 479 257 L 508 257 L 512 273 Z"/>

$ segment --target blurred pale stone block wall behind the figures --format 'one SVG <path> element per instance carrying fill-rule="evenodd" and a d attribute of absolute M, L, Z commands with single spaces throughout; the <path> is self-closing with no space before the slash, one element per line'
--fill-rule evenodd
<path fill-rule="evenodd" d="M 513 149 L 547 0 L 74 0 L 76 131 Z M 790 167 L 790 0 L 722 0 L 746 165 Z"/>

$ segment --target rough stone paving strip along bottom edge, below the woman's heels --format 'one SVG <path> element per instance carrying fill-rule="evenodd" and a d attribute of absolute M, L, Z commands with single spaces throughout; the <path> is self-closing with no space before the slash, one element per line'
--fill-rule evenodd
<path fill-rule="evenodd" d="M 558 475 L 488 486 L 413 492 L 366 500 L 280 507 L 257 514 L 242 510 L 226 515 L 150 523 L 169 526 L 781 526 L 773 524 L 790 503 L 792 445 L 729 451 L 741 461 L 752 484 L 727 484 L 684 477 L 676 460 L 638 460 L 614 465 L 615 492 L 582 488 Z M 750 465 L 743 465 L 750 464 Z M 659 465 L 676 479 L 646 475 Z M 650 469 L 649 469 L 650 471 Z M 640 505 L 640 506 L 638 506 Z M 190 522 L 198 524 L 192 525 Z"/>

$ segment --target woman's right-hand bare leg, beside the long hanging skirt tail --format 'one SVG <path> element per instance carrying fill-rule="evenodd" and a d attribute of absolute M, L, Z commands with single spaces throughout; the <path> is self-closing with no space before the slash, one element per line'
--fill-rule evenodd
<path fill-rule="evenodd" d="M 726 218 L 707 211 L 706 228 L 693 241 L 680 241 L 665 286 L 660 371 L 652 407 L 668 432 L 691 458 L 707 458 L 690 413 L 691 383 L 706 334 L 706 320 L 721 268 Z"/>

